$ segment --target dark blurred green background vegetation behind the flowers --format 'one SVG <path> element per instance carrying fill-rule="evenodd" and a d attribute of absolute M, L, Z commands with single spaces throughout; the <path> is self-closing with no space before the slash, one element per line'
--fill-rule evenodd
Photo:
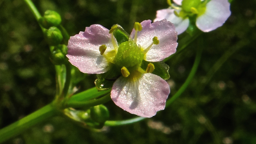
<path fill-rule="evenodd" d="M 166 0 L 34 0 L 34 4 L 41 14 L 48 9 L 59 12 L 71 36 L 92 24 L 108 29 L 120 24 L 129 33 L 134 22 L 154 20 L 156 10 L 168 7 Z M 230 9 L 232 15 L 222 27 L 201 34 L 166 62 L 171 97 L 186 80 L 197 48 L 204 47 L 186 91 L 153 118 L 88 130 L 55 116 L 4 144 L 256 144 L 256 1 L 233 0 Z M 56 82 L 49 56 L 25 2 L 0 0 L 0 128 L 52 102 Z M 93 87 L 95 78 L 82 80 L 79 91 Z M 105 105 L 111 120 L 134 117 L 112 101 Z"/>

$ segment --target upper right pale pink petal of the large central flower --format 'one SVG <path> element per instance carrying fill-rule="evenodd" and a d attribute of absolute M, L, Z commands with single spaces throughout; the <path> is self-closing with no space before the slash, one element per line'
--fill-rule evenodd
<path fill-rule="evenodd" d="M 176 52 L 177 48 L 177 32 L 174 25 L 166 19 L 156 21 L 151 24 L 151 20 L 144 20 L 140 23 L 142 30 L 138 32 L 137 44 L 143 49 L 148 48 L 152 44 L 152 38 L 158 37 L 159 44 L 148 50 L 145 60 L 148 62 L 159 62 Z M 130 38 L 134 39 L 135 30 L 132 30 Z"/>

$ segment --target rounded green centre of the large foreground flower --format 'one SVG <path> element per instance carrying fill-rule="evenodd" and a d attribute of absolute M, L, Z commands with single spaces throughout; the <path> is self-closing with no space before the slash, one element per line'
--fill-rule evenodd
<path fill-rule="evenodd" d="M 130 68 L 141 64 L 144 54 L 133 41 L 123 42 L 119 45 L 115 57 L 115 64 Z"/>

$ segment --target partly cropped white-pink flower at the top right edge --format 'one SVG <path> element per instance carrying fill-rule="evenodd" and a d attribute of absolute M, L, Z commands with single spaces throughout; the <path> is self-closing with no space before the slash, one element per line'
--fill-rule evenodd
<path fill-rule="evenodd" d="M 174 6 L 174 8 L 172 8 L 171 6 L 171 8 L 168 9 L 158 10 L 154 22 L 166 18 L 174 23 L 176 31 L 178 34 L 181 34 L 188 28 L 189 17 L 192 15 L 182 9 L 182 0 L 174 0 L 174 2 L 180 7 Z M 230 3 L 228 0 L 211 0 L 204 6 L 205 2 L 206 1 L 203 1 L 201 6 L 199 6 L 199 13 L 196 16 L 196 26 L 203 32 L 210 32 L 222 26 L 228 19 L 231 14 Z M 181 15 L 177 16 L 174 11 Z"/>

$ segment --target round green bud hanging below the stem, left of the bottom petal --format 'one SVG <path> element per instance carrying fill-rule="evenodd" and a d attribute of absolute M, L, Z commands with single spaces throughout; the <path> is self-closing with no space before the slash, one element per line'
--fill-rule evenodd
<path fill-rule="evenodd" d="M 90 108 L 90 114 L 92 120 L 98 123 L 104 123 L 109 119 L 109 111 L 108 108 L 104 105 L 98 105 Z"/>

